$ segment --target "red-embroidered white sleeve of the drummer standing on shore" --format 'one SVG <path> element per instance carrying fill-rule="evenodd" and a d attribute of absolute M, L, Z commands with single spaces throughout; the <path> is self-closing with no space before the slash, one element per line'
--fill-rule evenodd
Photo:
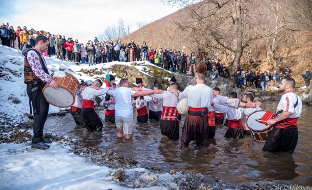
<path fill-rule="evenodd" d="M 47 74 L 42 68 L 40 63 L 40 57 L 36 52 L 34 52 L 33 50 L 28 51 L 27 60 L 36 76 L 38 76 L 44 82 L 51 82 L 53 78 L 49 74 Z"/>

